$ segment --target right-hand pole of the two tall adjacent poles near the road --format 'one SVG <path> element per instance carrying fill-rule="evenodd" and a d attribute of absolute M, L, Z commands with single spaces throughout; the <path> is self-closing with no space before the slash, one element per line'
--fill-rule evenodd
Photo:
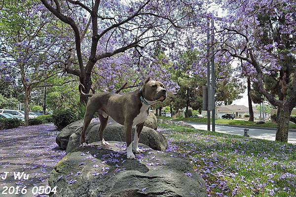
<path fill-rule="evenodd" d="M 214 49 L 214 20 L 212 19 L 211 23 L 211 28 L 212 28 L 212 35 L 211 35 L 211 45 L 212 45 L 212 59 L 211 59 L 211 64 L 212 64 L 212 104 L 213 104 L 213 110 L 212 110 L 212 131 L 215 131 L 215 49 Z"/>

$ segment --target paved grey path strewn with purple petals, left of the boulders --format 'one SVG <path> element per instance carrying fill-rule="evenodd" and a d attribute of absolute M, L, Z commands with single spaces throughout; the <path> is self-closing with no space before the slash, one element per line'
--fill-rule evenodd
<path fill-rule="evenodd" d="M 20 127 L 0 131 L 0 177 L 9 172 L 7 178 L 0 178 L 0 196 L 3 197 L 32 197 L 33 187 L 48 185 L 48 176 L 53 167 L 65 156 L 65 151 L 59 150 L 55 142 L 57 131 L 55 126 L 38 125 Z M 14 172 L 29 174 L 15 179 Z M 23 174 L 23 175 L 24 175 Z M 5 186 L 11 187 L 9 194 L 3 194 Z M 19 186 L 19 194 L 16 187 Z M 27 187 L 26 194 L 21 194 L 21 189 Z M 14 188 L 14 192 L 13 188 Z M 40 196 L 40 195 L 39 195 Z M 43 195 L 42 195 L 43 196 Z M 44 195 L 45 196 L 45 195 Z"/>

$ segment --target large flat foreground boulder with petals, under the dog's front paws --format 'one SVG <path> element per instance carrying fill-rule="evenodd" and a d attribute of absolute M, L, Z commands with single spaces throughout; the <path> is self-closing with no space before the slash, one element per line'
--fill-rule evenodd
<path fill-rule="evenodd" d="M 205 181 L 189 161 L 146 149 L 127 160 L 125 143 L 79 147 L 53 169 L 51 197 L 206 197 Z"/>

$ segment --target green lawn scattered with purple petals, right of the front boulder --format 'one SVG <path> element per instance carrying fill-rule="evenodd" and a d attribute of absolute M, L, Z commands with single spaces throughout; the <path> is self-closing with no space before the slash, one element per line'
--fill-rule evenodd
<path fill-rule="evenodd" d="M 167 151 L 185 157 L 213 197 L 295 197 L 296 145 L 159 125 Z"/>

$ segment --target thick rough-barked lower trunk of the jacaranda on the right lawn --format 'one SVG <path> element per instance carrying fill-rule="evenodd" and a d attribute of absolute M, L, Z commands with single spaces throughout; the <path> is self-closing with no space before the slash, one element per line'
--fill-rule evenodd
<path fill-rule="evenodd" d="M 292 109 L 293 108 L 290 108 L 286 102 L 279 106 L 279 116 L 277 119 L 278 125 L 275 135 L 276 141 L 288 142 L 289 123 Z"/>

